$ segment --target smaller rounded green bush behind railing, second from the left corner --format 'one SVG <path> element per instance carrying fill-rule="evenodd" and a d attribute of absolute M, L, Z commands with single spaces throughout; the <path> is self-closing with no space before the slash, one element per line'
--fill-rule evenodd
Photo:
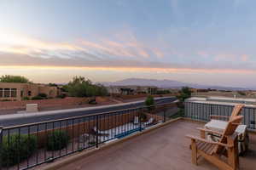
<path fill-rule="evenodd" d="M 67 147 L 69 136 L 66 131 L 55 130 L 47 138 L 47 150 L 61 150 Z"/>

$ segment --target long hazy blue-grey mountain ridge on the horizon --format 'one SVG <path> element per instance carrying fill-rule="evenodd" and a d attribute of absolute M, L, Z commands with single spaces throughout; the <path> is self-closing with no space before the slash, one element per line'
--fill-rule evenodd
<path fill-rule="evenodd" d="M 234 88 L 222 86 L 207 86 L 189 82 L 177 82 L 173 80 L 156 80 L 144 78 L 127 78 L 117 82 L 98 82 L 105 86 L 156 86 L 158 88 L 182 88 L 188 86 L 190 88 L 212 88 L 218 90 L 246 90 L 248 88 Z"/>

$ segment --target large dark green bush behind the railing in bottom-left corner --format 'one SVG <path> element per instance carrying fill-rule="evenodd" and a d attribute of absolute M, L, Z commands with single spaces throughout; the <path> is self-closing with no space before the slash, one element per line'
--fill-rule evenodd
<path fill-rule="evenodd" d="M 13 166 L 26 160 L 37 149 L 37 138 L 34 135 L 10 134 L 3 137 L 2 159 L 3 167 Z M 20 157 L 20 159 L 19 159 Z"/>

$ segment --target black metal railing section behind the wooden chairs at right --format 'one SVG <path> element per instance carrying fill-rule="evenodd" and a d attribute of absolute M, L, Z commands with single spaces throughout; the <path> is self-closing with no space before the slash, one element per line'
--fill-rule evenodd
<path fill-rule="evenodd" d="M 194 120 L 210 121 L 211 115 L 230 116 L 234 105 L 215 105 L 195 102 L 185 102 L 185 117 Z M 242 123 L 247 125 L 248 129 L 256 129 L 256 107 L 244 107 L 241 110 L 241 115 L 244 116 Z"/>

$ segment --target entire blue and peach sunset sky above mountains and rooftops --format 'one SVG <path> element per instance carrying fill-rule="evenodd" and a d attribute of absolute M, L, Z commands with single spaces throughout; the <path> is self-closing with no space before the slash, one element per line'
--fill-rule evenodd
<path fill-rule="evenodd" d="M 0 0 L 0 75 L 256 87 L 254 0 Z"/>

